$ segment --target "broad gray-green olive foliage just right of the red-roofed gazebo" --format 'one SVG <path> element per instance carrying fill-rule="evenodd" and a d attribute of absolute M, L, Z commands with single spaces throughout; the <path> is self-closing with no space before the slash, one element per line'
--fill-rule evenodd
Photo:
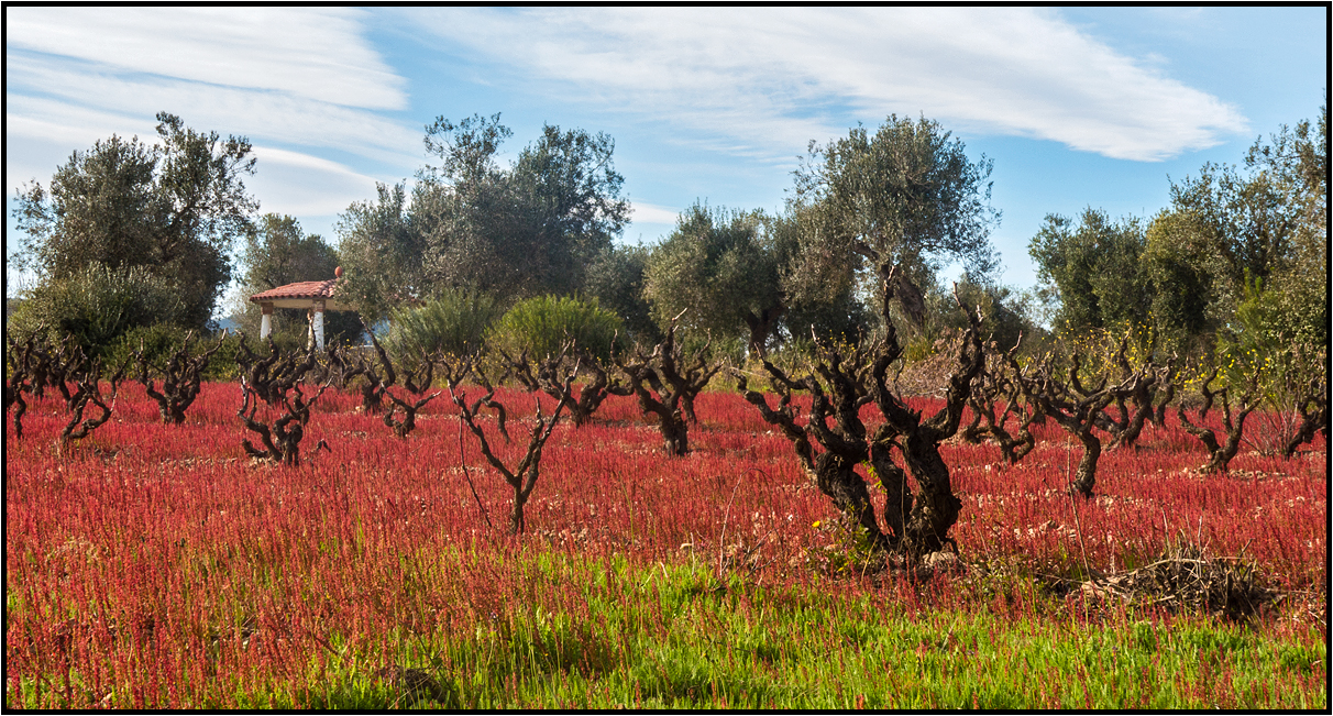
<path fill-rule="evenodd" d="M 607 135 L 547 125 L 509 167 L 496 161 L 512 135 L 500 115 L 427 128 L 427 152 L 441 160 L 403 184 L 379 188 L 339 224 L 348 296 L 372 320 L 395 301 L 441 288 L 484 291 L 499 300 L 568 293 L 611 248 L 629 216 Z"/>

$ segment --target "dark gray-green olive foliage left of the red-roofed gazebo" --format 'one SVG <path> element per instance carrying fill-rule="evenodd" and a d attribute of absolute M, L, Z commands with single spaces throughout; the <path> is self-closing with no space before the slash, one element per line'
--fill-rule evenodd
<path fill-rule="evenodd" d="M 257 201 L 244 175 L 255 157 L 244 137 L 196 132 L 157 115 L 160 145 L 112 136 L 73 152 L 49 189 L 33 183 L 17 196 L 20 265 L 43 280 L 68 279 L 101 264 L 151 267 L 175 288 L 176 320 L 203 327 L 231 280 L 229 251 Z"/>

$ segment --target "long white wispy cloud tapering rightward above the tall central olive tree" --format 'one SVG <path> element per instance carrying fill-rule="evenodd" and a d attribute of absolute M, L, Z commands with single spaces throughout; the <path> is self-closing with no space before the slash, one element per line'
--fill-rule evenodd
<path fill-rule="evenodd" d="M 579 96 L 784 159 L 890 112 L 1153 161 L 1246 131 L 1240 112 L 1025 8 L 413 11 L 441 37 Z M 517 40 L 517 41 L 516 41 Z"/>

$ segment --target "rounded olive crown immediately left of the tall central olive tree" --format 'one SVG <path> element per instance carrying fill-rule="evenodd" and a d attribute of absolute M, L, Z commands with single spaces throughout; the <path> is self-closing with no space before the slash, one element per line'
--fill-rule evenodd
<path fill-rule="evenodd" d="M 696 203 L 653 249 L 644 296 L 660 328 L 680 315 L 677 324 L 689 333 L 746 335 L 762 348 L 782 308 L 780 268 L 761 212 Z"/>

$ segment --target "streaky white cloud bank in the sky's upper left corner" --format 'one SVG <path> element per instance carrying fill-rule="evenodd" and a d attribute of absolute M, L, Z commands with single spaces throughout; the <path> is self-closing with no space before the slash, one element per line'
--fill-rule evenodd
<path fill-rule="evenodd" d="M 421 160 L 420 128 L 389 115 L 407 107 L 407 83 L 364 37 L 365 19 L 352 9 L 7 8 L 8 144 L 153 141 L 153 117 L 168 111 L 255 143 L 265 209 L 336 213 L 373 193 L 375 179 L 316 155 L 373 165 L 385 180 Z M 7 191 L 55 168 L 35 156 L 7 152 Z"/>

